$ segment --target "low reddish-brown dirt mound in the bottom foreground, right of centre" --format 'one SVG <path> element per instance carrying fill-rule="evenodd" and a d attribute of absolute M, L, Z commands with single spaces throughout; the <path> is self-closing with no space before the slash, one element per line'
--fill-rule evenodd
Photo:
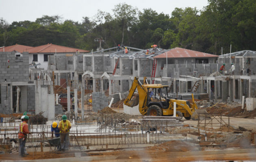
<path fill-rule="evenodd" d="M 148 149 L 165 150 L 173 152 L 198 151 L 198 147 L 192 147 L 184 141 L 168 141 Z"/>

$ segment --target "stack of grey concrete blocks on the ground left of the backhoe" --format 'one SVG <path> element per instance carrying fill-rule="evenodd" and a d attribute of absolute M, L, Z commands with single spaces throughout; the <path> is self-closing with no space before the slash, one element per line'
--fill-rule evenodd
<path fill-rule="evenodd" d="M 94 112 L 98 112 L 104 107 L 108 106 L 108 98 L 105 96 L 104 92 L 93 92 L 92 93 L 92 109 Z"/>

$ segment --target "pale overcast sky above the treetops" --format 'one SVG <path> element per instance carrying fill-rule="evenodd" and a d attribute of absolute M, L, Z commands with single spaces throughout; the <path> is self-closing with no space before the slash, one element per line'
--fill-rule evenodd
<path fill-rule="evenodd" d="M 196 7 L 202 10 L 207 0 L 0 0 L 0 17 L 8 23 L 13 21 L 35 21 L 43 15 L 59 15 L 63 19 L 82 21 L 82 17 L 92 18 L 98 10 L 113 14 L 118 3 L 125 2 L 140 11 L 151 8 L 157 13 L 171 15 L 176 7 Z"/>

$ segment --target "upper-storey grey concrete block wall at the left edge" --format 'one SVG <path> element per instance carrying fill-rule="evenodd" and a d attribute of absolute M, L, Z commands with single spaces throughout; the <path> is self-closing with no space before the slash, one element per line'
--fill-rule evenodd
<path fill-rule="evenodd" d="M 0 82 L 5 79 L 11 82 L 29 80 L 28 52 L 24 52 L 22 57 L 15 57 L 14 51 L 0 52 L 0 55 Z"/>

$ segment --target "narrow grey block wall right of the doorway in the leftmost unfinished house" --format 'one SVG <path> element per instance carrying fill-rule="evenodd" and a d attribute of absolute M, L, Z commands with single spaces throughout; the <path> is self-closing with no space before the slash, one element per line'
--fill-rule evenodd
<path fill-rule="evenodd" d="M 27 86 L 27 111 L 30 113 L 35 113 L 35 85 Z"/>

